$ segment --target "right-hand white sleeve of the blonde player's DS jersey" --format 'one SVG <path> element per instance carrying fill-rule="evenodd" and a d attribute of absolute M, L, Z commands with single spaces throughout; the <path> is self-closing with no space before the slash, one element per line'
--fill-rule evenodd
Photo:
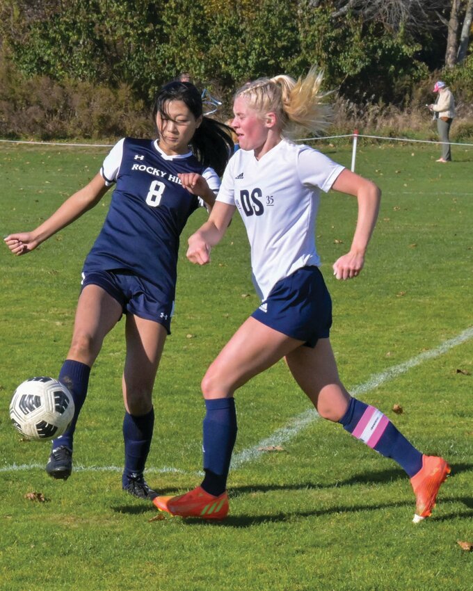
<path fill-rule="evenodd" d="M 309 146 L 300 147 L 297 171 L 300 182 L 306 187 L 319 187 L 328 193 L 344 168 Z"/>

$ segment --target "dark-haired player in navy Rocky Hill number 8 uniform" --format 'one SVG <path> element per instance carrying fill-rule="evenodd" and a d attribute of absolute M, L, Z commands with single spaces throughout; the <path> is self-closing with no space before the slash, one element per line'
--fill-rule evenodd
<path fill-rule="evenodd" d="M 157 139 L 120 140 L 100 172 L 48 220 L 33 232 L 5 238 L 14 254 L 31 252 L 97 205 L 116 184 L 102 230 L 83 265 L 72 343 L 59 374 L 72 392 L 74 419 L 54 439 L 46 471 L 53 478 L 70 476 L 74 430 L 90 369 L 104 337 L 125 314 L 122 488 L 141 499 L 157 494 L 143 471 L 154 425 L 152 389 L 173 315 L 179 235 L 195 209 L 213 207 L 219 177 L 233 152 L 230 129 L 202 115 L 200 92 L 189 82 L 161 88 L 153 119 Z"/>

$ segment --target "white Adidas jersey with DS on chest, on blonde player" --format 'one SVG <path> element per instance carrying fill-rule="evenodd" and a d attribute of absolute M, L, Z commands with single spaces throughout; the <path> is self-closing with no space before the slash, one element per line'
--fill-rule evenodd
<path fill-rule="evenodd" d="M 315 222 L 344 166 L 315 149 L 281 140 L 257 160 L 239 149 L 225 169 L 217 201 L 236 205 L 251 246 L 252 280 L 262 300 L 273 286 L 306 265 L 318 266 Z"/>

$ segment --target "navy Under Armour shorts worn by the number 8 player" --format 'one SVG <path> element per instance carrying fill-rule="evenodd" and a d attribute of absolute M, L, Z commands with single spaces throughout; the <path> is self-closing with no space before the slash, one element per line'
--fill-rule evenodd
<path fill-rule="evenodd" d="M 123 314 L 162 324 L 171 334 L 174 300 L 166 297 L 158 286 L 126 269 L 97 270 L 83 273 L 82 287 L 98 285 L 120 304 Z"/>

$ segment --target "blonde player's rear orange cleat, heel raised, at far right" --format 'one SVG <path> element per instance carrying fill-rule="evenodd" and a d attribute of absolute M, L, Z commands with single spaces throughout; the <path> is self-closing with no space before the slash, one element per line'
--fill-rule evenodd
<path fill-rule="evenodd" d="M 440 485 L 445 482 L 449 473 L 449 464 L 443 458 L 435 455 L 422 456 L 422 468 L 410 479 L 416 500 L 412 519 L 415 524 L 432 515 Z"/>

